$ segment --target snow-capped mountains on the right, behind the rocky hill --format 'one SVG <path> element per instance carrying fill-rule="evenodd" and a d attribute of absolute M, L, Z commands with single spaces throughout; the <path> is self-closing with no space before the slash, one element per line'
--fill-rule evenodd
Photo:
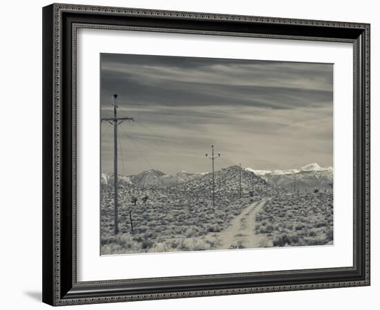
<path fill-rule="evenodd" d="M 311 163 L 301 168 L 285 170 L 256 170 L 246 168 L 278 187 L 298 192 L 307 192 L 312 189 L 331 190 L 333 182 L 332 167 L 321 167 L 318 163 Z"/>

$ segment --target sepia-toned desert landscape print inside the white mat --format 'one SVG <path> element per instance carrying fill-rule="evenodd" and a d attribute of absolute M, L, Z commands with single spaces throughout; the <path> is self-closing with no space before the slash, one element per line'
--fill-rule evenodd
<path fill-rule="evenodd" d="M 102 255 L 333 245 L 333 64 L 100 54 Z"/>

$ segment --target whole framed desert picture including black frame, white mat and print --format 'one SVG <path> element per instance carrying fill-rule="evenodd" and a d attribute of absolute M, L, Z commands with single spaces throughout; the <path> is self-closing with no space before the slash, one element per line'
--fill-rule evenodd
<path fill-rule="evenodd" d="M 370 285 L 370 25 L 43 8 L 43 301 Z"/>

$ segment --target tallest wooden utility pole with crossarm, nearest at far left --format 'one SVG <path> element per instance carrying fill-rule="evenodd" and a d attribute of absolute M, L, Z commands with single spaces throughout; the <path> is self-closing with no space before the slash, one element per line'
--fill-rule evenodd
<path fill-rule="evenodd" d="M 123 121 L 134 121 L 133 117 L 117 117 L 117 94 L 112 96 L 113 117 L 101 118 L 101 121 L 107 121 L 113 125 L 113 202 L 114 202 L 114 231 L 115 235 L 119 233 L 118 203 L 117 203 L 117 126 Z"/>

